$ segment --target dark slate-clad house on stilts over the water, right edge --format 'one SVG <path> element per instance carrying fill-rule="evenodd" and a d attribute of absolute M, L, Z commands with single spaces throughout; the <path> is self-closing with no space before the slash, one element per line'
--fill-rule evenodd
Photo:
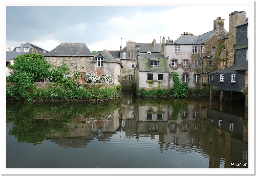
<path fill-rule="evenodd" d="M 220 100 L 224 91 L 229 99 L 232 99 L 232 93 L 236 93 L 236 97 L 245 94 L 245 105 L 248 106 L 248 18 L 236 27 L 234 50 L 236 64 L 213 72 L 210 87 L 221 91 Z"/>

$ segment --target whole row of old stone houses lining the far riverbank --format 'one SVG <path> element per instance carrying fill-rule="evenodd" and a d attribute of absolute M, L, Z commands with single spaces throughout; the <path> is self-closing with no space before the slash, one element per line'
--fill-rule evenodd
<path fill-rule="evenodd" d="M 174 85 L 173 74 L 179 73 L 180 81 L 187 82 L 190 88 L 210 85 L 221 91 L 245 92 L 248 90 L 248 18 L 243 11 L 229 14 L 229 32 L 224 29 L 224 21 L 217 17 L 213 30 L 199 36 L 183 32 L 176 41 L 164 36 L 160 43 L 155 39 L 152 43 L 127 41 L 123 49 L 103 50 L 96 56 L 85 43 L 62 42 L 48 52 L 27 42 L 7 52 L 7 64 L 12 64 L 17 55 L 13 53 L 37 51 L 55 65 L 65 58 L 71 77 L 76 72 L 82 73 L 81 79 L 88 72 L 111 75 L 113 82 L 122 82 L 125 90 L 132 89 L 132 82 L 136 83 L 137 91 L 169 89 Z"/>

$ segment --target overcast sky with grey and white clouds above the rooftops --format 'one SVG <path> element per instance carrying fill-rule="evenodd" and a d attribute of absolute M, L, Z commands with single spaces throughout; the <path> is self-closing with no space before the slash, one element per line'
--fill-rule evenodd
<path fill-rule="evenodd" d="M 182 32 L 194 35 L 212 31 L 218 16 L 246 11 L 240 5 L 168 5 L 168 6 L 6 6 L 6 49 L 29 41 L 53 50 L 61 42 L 84 42 L 90 51 L 119 50 L 126 41 L 151 43 L 160 37 L 179 38 Z M 234 3 L 233 3 L 234 4 Z M 247 4 L 247 5 L 246 5 Z M 56 3 L 55 3 L 56 5 Z M 253 4 L 252 4 L 253 5 Z M 162 41 L 161 41 L 162 42 Z M 7 51 L 7 50 L 6 50 Z"/>

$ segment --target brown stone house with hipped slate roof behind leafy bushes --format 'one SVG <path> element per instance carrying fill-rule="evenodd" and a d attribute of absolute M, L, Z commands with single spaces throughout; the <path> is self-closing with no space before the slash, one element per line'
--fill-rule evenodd
<path fill-rule="evenodd" d="M 84 79 L 88 72 L 93 71 L 93 58 L 91 51 L 82 42 L 62 42 L 45 54 L 45 59 L 56 66 L 61 65 L 65 59 L 71 71 L 70 75 L 67 73 L 66 76 L 74 77 L 80 72 L 81 79 Z"/>

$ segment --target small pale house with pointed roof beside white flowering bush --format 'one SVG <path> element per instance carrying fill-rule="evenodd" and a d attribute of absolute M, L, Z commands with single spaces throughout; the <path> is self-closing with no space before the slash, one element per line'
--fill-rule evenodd
<path fill-rule="evenodd" d="M 108 51 L 103 50 L 93 59 L 93 72 L 99 77 L 109 75 L 114 84 L 120 84 L 122 62 L 113 57 Z"/>

